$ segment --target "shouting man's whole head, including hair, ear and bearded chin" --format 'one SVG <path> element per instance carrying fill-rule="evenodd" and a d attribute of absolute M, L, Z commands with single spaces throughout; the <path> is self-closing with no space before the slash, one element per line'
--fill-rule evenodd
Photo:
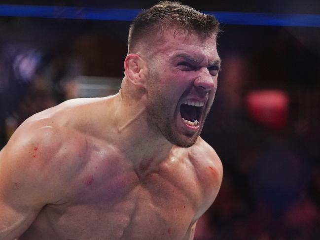
<path fill-rule="evenodd" d="M 195 143 L 213 103 L 217 32 L 213 16 L 169 1 L 139 14 L 130 28 L 125 79 L 143 96 L 148 125 L 181 147 Z"/>

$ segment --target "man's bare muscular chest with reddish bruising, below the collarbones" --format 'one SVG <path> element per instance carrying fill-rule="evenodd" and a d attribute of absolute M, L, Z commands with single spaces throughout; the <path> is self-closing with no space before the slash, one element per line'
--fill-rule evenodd
<path fill-rule="evenodd" d="M 183 239 L 196 208 L 194 193 L 182 187 L 190 182 L 161 172 L 141 182 L 121 163 L 107 166 L 106 179 L 107 169 L 96 165 L 76 179 L 66 203 L 44 207 L 29 231 L 47 229 L 55 240 Z"/>

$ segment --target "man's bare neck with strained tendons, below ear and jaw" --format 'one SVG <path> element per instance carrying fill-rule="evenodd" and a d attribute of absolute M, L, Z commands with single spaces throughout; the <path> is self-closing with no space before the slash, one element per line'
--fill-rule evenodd
<path fill-rule="evenodd" d="M 146 118 L 145 97 L 128 100 L 120 93 L 115 96 L 114 125 L 118 147 L 133 162 L 137 173 L 155 170 L 167 158 L 171 144 Z"/>

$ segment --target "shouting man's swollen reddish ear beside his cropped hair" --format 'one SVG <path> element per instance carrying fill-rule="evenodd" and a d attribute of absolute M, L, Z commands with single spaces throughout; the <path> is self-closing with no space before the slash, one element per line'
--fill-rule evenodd
<path fill-rule="evenodd" d="M 137 87 L 145 88 L 145 64 L 138 54 L 130 53 L 124 60 L 127 79 Z"/>

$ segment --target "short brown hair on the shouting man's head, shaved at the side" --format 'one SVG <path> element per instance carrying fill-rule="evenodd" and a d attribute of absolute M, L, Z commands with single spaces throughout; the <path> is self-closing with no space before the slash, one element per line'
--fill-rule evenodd
<path fill-rule="evenodd" d="M 219 22 L 213 15 L 203 14 L 177 1 L 160 1 L 139 13 L 132 22 L 128 37 L 129 52 L 139 40 L 172 26 L 176 30 L 194 31 L 205 37 L 216 36 L 219 32 Z"/>

